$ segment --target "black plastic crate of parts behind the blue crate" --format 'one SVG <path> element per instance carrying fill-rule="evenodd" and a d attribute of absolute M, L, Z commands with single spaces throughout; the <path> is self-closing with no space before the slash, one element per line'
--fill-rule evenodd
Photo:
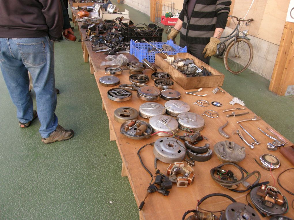
<path fill-rule="evenodd" d="M 138 27 L 138 24 L 134 27 L 128 27 L 127 24 L 121 24 L 121 35 L 124 37 L 123 40 L 128 42 L 130 40 L 141 40 L 145 39 L 150 42 L 162 42 L 163 28 L 150 23 L 148 26 Z"/>

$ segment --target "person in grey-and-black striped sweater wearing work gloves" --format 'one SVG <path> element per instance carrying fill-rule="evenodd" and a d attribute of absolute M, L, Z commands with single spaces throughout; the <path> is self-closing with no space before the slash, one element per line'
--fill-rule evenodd
<path fill-rule="evenodd" d="M 188 53 L 209 65 L 220 43 L 231 0 L 184 0 L 183 9 L 167 39 L 173 40 L 180 33 L 180 47 L 187 46 Z"/>

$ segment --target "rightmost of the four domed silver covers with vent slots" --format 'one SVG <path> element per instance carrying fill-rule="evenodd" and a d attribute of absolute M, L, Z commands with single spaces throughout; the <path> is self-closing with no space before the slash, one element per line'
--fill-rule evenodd
<path fill-rule="evenodd" d="M 202 131 L 205 124 L 202 116 L 194 112 L 184 112 L 179 114 L 177 121 L 179 123 L 179 128 L 188 128 L 193 131 Z"/>

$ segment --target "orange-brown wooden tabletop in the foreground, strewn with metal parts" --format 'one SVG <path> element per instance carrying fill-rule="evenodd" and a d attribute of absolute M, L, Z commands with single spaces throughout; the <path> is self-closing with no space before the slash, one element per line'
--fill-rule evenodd
<path fill-rule="evenodd" d="M 153 86 L 154 81 L 151 80 L 151 77 L 150 77 L 151 73 L 152 73 L 151 70 L 147 70 L 147 69 L 144 70 L 144 74 L 148 75 L 150 78 L 148 85 Z M 99 78 L 102 76 L 105 76 L 104 71 L 95 72 L 94 75 L 98 85 L 99 92 L 103 100 L 103 106 L 106 110 L 106 113 L 109 119 L 110 140 L 116 141 L 118 150 L 121 154 L 121 158 L 123 161 L 122 176 L 128 176 L 136 202 L 139 205 L 145 197 L 146 190 L 151 180 L 151 177 L 146 172 L 146 170 L 144 170 L 144 168 L 141 166 L 139 158 L 137 156 L 137 151 L 141 146 L 147 143 L 152 143 L 160 137 L 155 135 L 155 136 L 152 136 L 150 139 L 133 140 L 133 139 L 127 138 L 123 134 L 120 134 L 121 124 L 116 122 L 113 118 L 113 112 L 115 111 L 115 109 L 122 106 L 129 106 L 138 110 L 139 106 L 145 103 L 146 101 L 139 99 L 136 96 L 136 92 L 133 92 L 133 97 L 129 101 L 124 101 L 124 102 L 112 101 L 107 98 L 107 91 L 113 87 L 103 87 L 99 84 Z M 117 77 L 120 78 L 121 84 L 123 83 L 129 84 L 128 71 L 123 71 L 123 73 L 121 75 L 117 75 Z M 272 141 L 271 139 L 263 135 L 257 128 L 257 127 L 260 127 L 261 129 L 266 130 L 266 127 L 270 127 L 270 126 L 267 123 L 265 123 L 263 120 L 247 121 L 242 123 L 243 127 L 246 128 L 255 138 L 258 139 L 258 141 L 261 142 L 260 145 L 256 145 L 255 148 L 251 150 L 247 145 L 245 145 L 240 140 L 240 138 L 237 135 L 233 135 L 231 133 L 233 130 L 240 129 L 236 121 L 239 121 L 245 118 L 252 118 L 255 115 L 252 111 L 250 111 L 249 109 L 246 109 L 250 111 L 250 113 L 245 116 L 240 116 L 235 118 L 234 117 L 226 118 L 227 112 L 225 113 L 222 112 L 224 109 L 230 109 L 232 107 L 241 107 L 239 104 L 235 104 L 234 106 L 229 104 L 229 102 L 232 100 L 233 97 L 227 92 L 226 93 L 218 92 L 216 94 L 213 94 L 212 93 L 213 88 L 206 88 L 200 92 L 200 94 L 208 94 L 206 97 L 196 97 L 193 95 L 185 94 L 186 91 L 191 91 L 191 90 L 185 91 L 177 83 L 175 83 L 173 89 L 181 92 L 182 96 L 180 100 L 185 101 L 186 103 L 190 105 L 191 112 L 202 114 L 203 111 L 207 109 L 211 109 L 219 113 L 219 117 L 214 119 L 203 116 L 203 119 L 205 120 L 205 127 L 203 131 L 201 131 L 201 134 L 207 137 L 208 141 L 204 140 L 198 143 L 197 146 L 203 146 L 205 145 L 205 143 L 209 143 L 210 148 L 213 150 L 213 147 L 217 142 L 225 141 L 225 140 L 234 141 L 235 143 L 241 146 L 245 146 L 246 157 L 238 165 L 245 168 L 248 172 L 253 172 L 254 170 L 260 171 L 261 173 L 260 182 L 269 181 L 270 185 L 274 184 L 270 171 L 263 170 L 260 166 L 258 166 L 255 163 L 254 158 L 258 160 L 260 155 L 264 153 L 270 153 L 280 159 L 281 167 L 276 170 L 273 170 L 272 173 L 273 173 L 273 177 L 275 178 L 275 186 L 281 190 L 283 195 L 288 199 L 288 202 L 290 205 L 289 211 L 287 214 L 285 214 L 285 216 L 293 217 L 294 210 L 291 207 L 291 202 L 293 201 L 294 196 L 285 192 L 285 190 L 283 190 L 277 184 L 278 175 L 284 170 L 286 170 L 287 168 L 293 167 L 293 165 L 288 160 L 286 160 L 284 156 L 279 153 L 278 150 L 272 151 L 272 152 L 267 151 L 266 143 L 272 142 Z M 193 102 L 195 102 L 198 99 L 205 99 L 209 101 L 209 103 L 211 103 L 212 101 L 219 101 L 223 104 L 223 106 L 216 107 L 216 106 L 210 105 L 208 107 L 200 107 L 200 106 L 194 105 Z M 156 102 L 164 105 L 166 101 L 163 99 L 160 99 Z M 243 112 L 243 111 L 240 111 L 240 112 Z M 231 112 L 229 112 L 228 114 L 230 113 Z M 148 119 L 142 119 L 140 116 L 139 116 L 139 119 L 148 122 Z M 223 138 L 218 133 L 218 128 L 224 125 L 227 120 L 229 121 L 229 124 L 227 127 L 224 128 L 224 131 L 230 134 L 229 139 Z M 180 132 L 180 134 L 182 133 L 183 132 Z M 245 138 L 248 139 L 248 141 L 250 140 L 248 136 L 245 136 Z M 288 145 L 292 145 L 292 143 Z M 153 168 L 154 155 L 153 155 L 152 148 L 153 148 L 152 146 L 148 145 L 146 148 L 141 150 L 140 155 L 146 167 L 148 167 L 148 169 L 151 170 L 151 172 L 154 175 L 155 174 L 155 171 Z M 224 187 L 221 187 L 220 185 L 218 185 L 216 182 L 212 180 L 210 176 L 210 170 L 211 168 L 220 164 L 221 162 L 218 160 L 215 154 L 213 154 L 211 160 L 207 162 L 196 162 L 195 167 L 193 167 L 195 172 L 195 180 L 193 184 L 188 185 L 188 187 L 186 188 L 178 188 L 174 184 L 169 196 L 162 196 L 161 194 L 158 194 L 157 192 L 150 194 L 145 201 L 145 206 L 139 212 L 140 219 L 148 219 L 148 220 L 150 219 L 156 219 L 156 220 L 181 219 L 185 211 L 195 209 L 197 200 L 211 193 L 225 193 L 233 197 L 237 202 L 242 202 L 244 204 L 247 204 L 246 198 L 245 198 L 247 192 L 246 193 L 232 192 Z M 157 165 L 158 165 L 158 169 L 160 169 L 162 172 L 165 173 L 166 168 L 168 167 L 168 164 L 158 161 Z M 235 174 L 239 175 L 236 169 L 234 168 L 232 169 L 232 167 L 228 167 L 228 169 L 231 169 Z M 290 174 L 293 174 L 293 171 L 287 171 L 287 172 L 288 172 L 288 175 L 286 173 L 283 174 L 280 178 L 280 181 L 285 188 L 293 192 L 294 191 L 293 190 L 294 189 L 293 175 L 292 176 L 290 175 Z M 249 178 L 248 182 L 253 183 L 255 180 L 256 179 L 253 176 Z M 225 209 L 230 203 L 231 203 L 230 200 L 225 199 L 223 197 L 213 197 L 204 201 L 200 207 L 203 209 L 216 211 L 216 210 Z M 217 213 L 216 215 L 219 216 L 219 213 Z M 267 217 L 266 219 L 270 219 L 270 218 Z"/>

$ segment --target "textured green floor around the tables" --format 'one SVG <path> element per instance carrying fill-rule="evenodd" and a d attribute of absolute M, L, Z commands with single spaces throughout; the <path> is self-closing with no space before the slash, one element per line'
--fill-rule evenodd
<path fill-rule="evenodd" d="M 113 2 L 115 3 L 115 1 Z M 149 17 L 126 5 L 135 23 Z M 75 35 L 79 36 L 77 27 Z M 163 40 L 166 34 L 163 35 Z M 81 43 L 55 43 L 56 115 L 72 139 L 45 145 L 40 123 L 19 128 L 16 109 L 0 77 L 0 219 L 139 219 L 127 177 L 121 177 L 121 157 L 109 141 L 108 119 Z M 293 96 L 268 91 L 269 81 L 249 70 L 227 72 L 220 59 L 211 65 L 225 74 L 223 88 L 294 142 Z M 266 67 L 265 67 L 266 68 Z M 35 93 L 31 95 L 35 100 Z"/>

